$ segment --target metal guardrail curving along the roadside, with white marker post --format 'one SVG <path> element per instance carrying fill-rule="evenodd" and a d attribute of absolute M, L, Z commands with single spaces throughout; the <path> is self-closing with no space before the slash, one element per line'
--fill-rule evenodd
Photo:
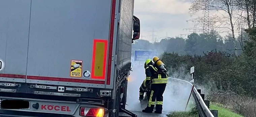
<path fill-rule="evenodd" d="M 192 83 L 194 83 L 194 68 L 195 67 L 191 67 L 191 69 L 190 69 L 190 74 L 191 74 L 191 79 L 192 79 L 190 82 L 192 82 Z M 179 80 L 182 82 L 186 82 L 191 85 L 191 88 L 194 86 L 192 83 L 185 81 L 185 80 L 171 78 L 171 77 L 169 77 L 169 78 L 174 79 L 174 80 Z M 193 87 L 192 95 L 196 102 L 196 107 L 198 109 L 199 117 L 218 117 L 217 110 L 211 111 L 209 109 L 210 101 L 209 101 L 209 104 L 207 104 L 208 106 L 205 104 L 204 94 L 201 94 L 201 90 L 199 90 L 199 92 L 198 92 L 198 90 L 195 87 Z M 203 95 L 203 97 L 201 95 Z"/>

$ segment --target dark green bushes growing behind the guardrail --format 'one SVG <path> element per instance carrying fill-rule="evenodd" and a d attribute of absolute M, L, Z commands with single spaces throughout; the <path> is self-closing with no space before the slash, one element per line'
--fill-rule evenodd
<path fill-rule="evenodd" d="M 204 55 L 179 55 L 163 53 L 162 61 L 167 65 L 169 75 L 185 67 L 189 74 L 195 66 L 195 84 L 214 86 L 216 90 L 233 91 L 240 95 L 256 94 L 256 61 L 250 56 L 234 57 L 221 51 L 210 51 Z"/>

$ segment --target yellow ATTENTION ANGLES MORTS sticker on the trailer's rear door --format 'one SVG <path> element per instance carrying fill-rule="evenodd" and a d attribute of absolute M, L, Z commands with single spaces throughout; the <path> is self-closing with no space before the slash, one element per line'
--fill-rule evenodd
<path fill-rule="evenodd" d="M 83 61 L 71 60 L 70 77 L 82 77 Z"/>

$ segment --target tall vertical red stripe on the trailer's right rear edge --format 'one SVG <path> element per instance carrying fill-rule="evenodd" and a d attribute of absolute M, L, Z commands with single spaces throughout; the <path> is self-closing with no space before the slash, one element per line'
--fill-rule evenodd
<path fill-rule="evenodd" d="M 110 85 L 111 76 L 111 63 L 112 63 L 112 50 L 113 50 L 113 38 L 114 38 L 114 26 L 115 26 L 115 10 L 116 0 L 112 0 L 111 5 L 111 20 L 110 20 L 110 31 L 109 31 L 109 49 L 108 49 L 108 61 L 107 61 L 107 85 Z"/>

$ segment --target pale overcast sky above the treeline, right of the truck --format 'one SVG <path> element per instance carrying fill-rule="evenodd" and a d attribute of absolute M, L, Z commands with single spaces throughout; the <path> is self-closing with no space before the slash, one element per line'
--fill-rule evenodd
<path fill-rule="evenodd" d="M 140 39 L 151 42 L 153 29 L 156 31 L 154 38 L 158 39 L 166 35 L 187 37 L 187 34 L 192 33 L 194 23 L 186 20 L 203 16 L 202 13 L 191 16 L 188 13 L 190 5 L 190 0 L 134 0 L 134 15 L 140 19 L 141 24 Z M 210 14 L 222 16 L 225 12 L 212 11 Z M 185 28 L 191 28 L 191 30 Z M 225 34 L 222 35 L 225 36 Z"/>

